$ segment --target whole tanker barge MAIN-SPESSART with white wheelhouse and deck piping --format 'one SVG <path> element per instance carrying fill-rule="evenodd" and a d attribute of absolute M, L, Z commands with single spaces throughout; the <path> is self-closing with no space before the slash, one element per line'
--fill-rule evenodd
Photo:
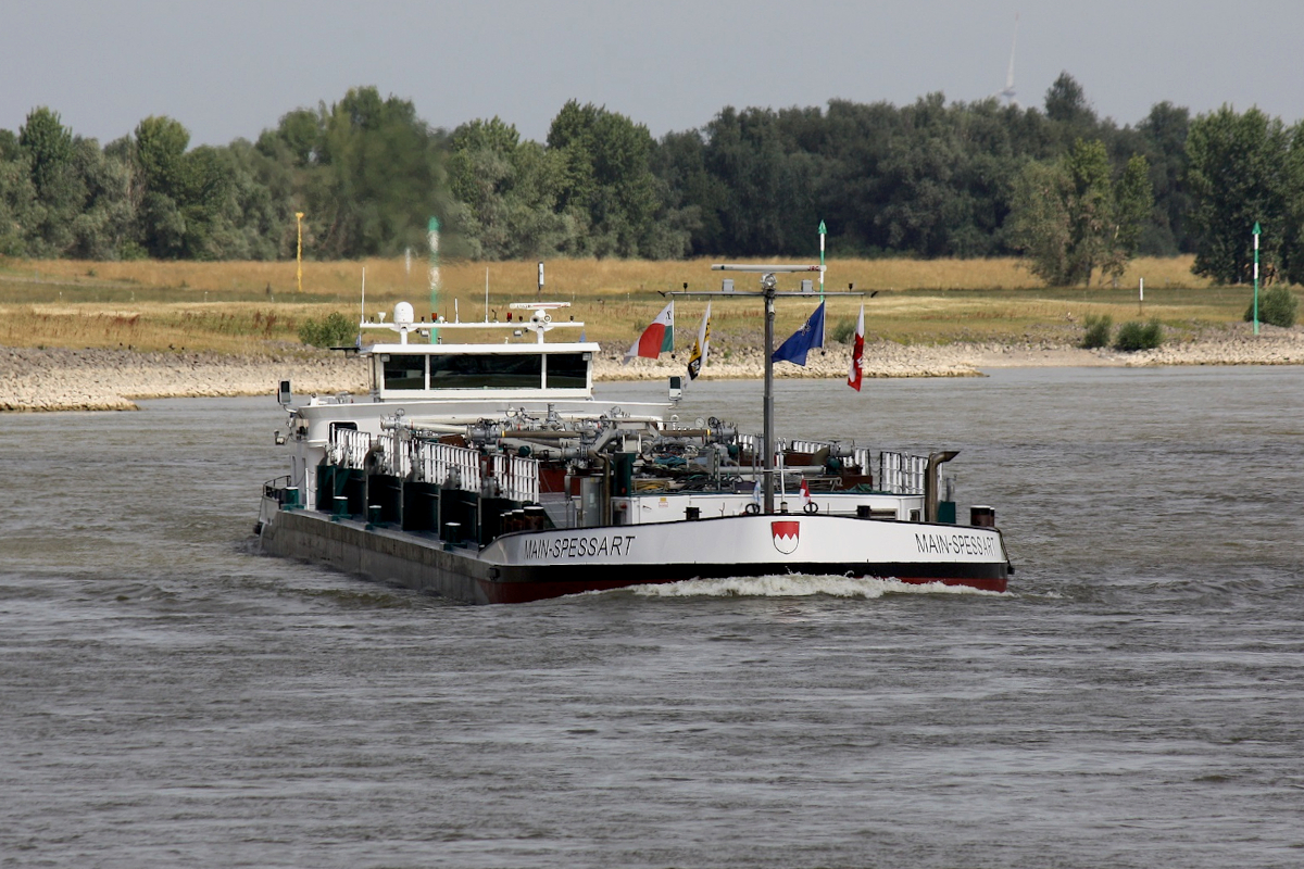
<path fill-rule="evenodd" d="M 790 573 L 1004 591 L 994 511 L 957 521 L 955 452 L 775 435 L 775 272 L 794 268 L 764 268 L 759 292 L 721 293 L 767 305 L 758 434 L 596 399 L 601 348 L 546 339 L 583 327 L 566 302 L 518 302 L 501 323 L 416 321 L 406 302 L 364 319 L 369 396 L 280 383 L 289 470 L 263 485 L 262 551 L 468 603 Z M 389 336 L 363 345 L 369 330 Z M 464 331 L 479 340 L 450 340 Z"/>

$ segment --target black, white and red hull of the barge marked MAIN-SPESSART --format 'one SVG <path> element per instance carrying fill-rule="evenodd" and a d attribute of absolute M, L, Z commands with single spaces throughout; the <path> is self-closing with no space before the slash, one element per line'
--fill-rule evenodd
<path fill-rule="evenodd" d="M 468 603 L 523 603 L 692 578 L 833 575 L 1004 591 L 1000 532 L 829 515 L 745 515 L 503 534 L 485 547 L 273 509 L 263 551 Z"/>

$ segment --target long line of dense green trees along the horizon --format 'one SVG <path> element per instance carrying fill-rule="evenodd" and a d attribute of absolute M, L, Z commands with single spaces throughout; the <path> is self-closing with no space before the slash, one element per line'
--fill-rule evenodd
<path fill-rule="evenodd" d="M 100 147 L 47 107 L 0 130 L 0 255 L 292 258 L 296 212 L 319 259 L 420 250 L 429 216 L 476 259 L 808 257 L 824 221 L 831 255 L 1024 255 L 1056 285 L 1179 253 L 1244 283 L 1257 221 L 1265 274 L 1304 283 L 1304 124 L 1164 102 L 1119 126 L 1064 73 L 1041 107 L 728 107 L 660 139 L 576 100 L 544 142 L 436 129 L 374 87 L 219 147 L 170 117 Z"/>

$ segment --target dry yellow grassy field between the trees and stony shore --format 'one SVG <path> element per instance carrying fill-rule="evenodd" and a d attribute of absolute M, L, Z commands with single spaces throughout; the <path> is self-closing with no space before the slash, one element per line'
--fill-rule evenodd
<path fill-rule="evenodd" d="M 780 261 L 781 262 L 781 261 Z M 865 297 L 868 337 L 904 343 L 957 340 L 1076 340 L 1089 314 L 1115 323 L 1158 317 L 1164 324 L 1194 331 L 1241 319 L 1251 297 L 1244 287 L 1213 287 L 1191 274 L 1191 258 L 1140 259 L 1118 289 L 1112 287 L 1045 288 L 1017 259 L 831 261 L 825 289 L 876 291 Z M 389 311 L 409 301 L 428 315 L 426 264 L 402 258 L 363 262 L 305 262 L 303 292 L 296 292 L 293 262 L 103 262 L 0 259 L 0 345 L 132 347 L 250 353 L 269 343 L 297 344 L 299 326 L 340 311 L 360 311 L 363 274 L 366 313 Z M 507 304 L 536 298 L 537 264 L 451 263 L 441 268 L 437 310 L 447 319 L 482 319 L 485 285 L 489 309 L 503 317 Z M 546 263 L 542 298 L 569 301 L 576 321 L 588 323 L 589 340 L 615 345 L 632 341 L 665 305 L 661 292 L 719 289 L 726 275 L 711 261 L 553 261 Z M 752 289 L 756 278 L 729 275 L 737 289 Z M 1144 310 L 1137 281 L 1145 279 Z M 797 289 L 799 275 L 781 276 Z M 818 285 L 818 281 L 816 281 Z M 754 343 L 762 332 L 759 305 L 717 300 L 712 334 L 720 344 Z M 831 297 L 829 332 L 848 330 L 861 304 Z M 705 300 L 679 300 L 678 343 L 691 341 Z M 776 332 L 790 332 L 810 314 L 806 300 L 778 304 Z M 471 337 L 466 335 L 466 337 Z"/>

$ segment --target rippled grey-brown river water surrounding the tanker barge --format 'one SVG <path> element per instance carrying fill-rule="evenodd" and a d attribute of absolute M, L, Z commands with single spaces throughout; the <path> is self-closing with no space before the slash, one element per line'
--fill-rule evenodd
<path fill-rule="evenodd" d="M 253 552 L 274 399 L 0 417 L 0 866 L 1304 865 L 1304 369 L 776 392 L 960 448 L 1011 591 L 456 606 Z"/>

